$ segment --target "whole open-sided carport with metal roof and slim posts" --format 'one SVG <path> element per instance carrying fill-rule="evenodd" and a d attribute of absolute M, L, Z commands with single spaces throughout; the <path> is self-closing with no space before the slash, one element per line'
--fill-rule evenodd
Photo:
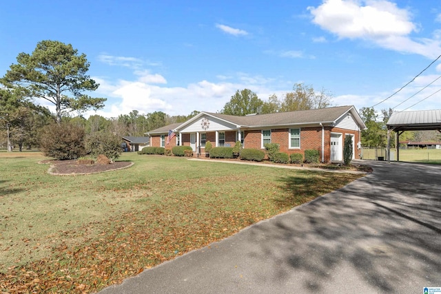
<path fill-rule="evenodd" d="M 441 109 L 393 112 L 387 120 L 387 162 L 391 162 L 391 132 L 395 132 L 397 161 L 400 161 L 400 135 L 405 131 L 441 132 Z"/>

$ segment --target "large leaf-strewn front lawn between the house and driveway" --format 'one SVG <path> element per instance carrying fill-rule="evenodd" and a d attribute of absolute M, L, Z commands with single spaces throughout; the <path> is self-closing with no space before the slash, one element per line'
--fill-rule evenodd
<path fill-rule="evenodd" d="M 134 153 L 51 176 L 42 159 L 0 154 L 1 291 L 96 291 L 360 177 Z"/>

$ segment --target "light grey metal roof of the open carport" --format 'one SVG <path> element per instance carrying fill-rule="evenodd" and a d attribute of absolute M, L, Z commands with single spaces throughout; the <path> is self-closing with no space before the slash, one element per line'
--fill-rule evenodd
<path fill-rule="evenodd" d="M 386 125 L 388 129 L 396 132 L 441 129 L 441 109 L 393 112 Z"/>

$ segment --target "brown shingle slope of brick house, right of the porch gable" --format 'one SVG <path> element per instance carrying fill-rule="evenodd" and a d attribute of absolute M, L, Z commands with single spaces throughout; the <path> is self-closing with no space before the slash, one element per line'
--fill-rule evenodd
<path fill-rule="evenodd" d="M 206 112 L 217 118 L 228 120 L 244 127 L 265 127 L 276 125 L 301 125 L 307 123 L 334 123 L 353 106 L 339 106 L 320 109 L 300 110 L 296 112 L 278 112 L 275 114 L 256 114 L 251 116 L 230 116 Z"/>

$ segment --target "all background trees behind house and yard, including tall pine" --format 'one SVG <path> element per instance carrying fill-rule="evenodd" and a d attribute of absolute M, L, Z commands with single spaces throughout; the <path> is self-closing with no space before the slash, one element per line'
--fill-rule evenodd
<path fill-rule="evenodd" d="M 85 93 L 98 89 L 99 84 L 90 76 L 90 63 L 85 54 L 79 54 L 72 45 L 45 40 L 37 43 L 32 54 L 20 53 L 17 63 L 0 78 L 0 146 L 8 150 L 36 147 L 41 130 L 50 124 L 70 123 L 81 127 L 85 134 L 108 132 L 115 136 L 144 136 L 145 132 L 171 123 L 183 123 L 199 112 L 170 116 L 164 112 L 141 114 L 132 110 L 116 118 L 82 114 L 89 109 L 102 109 L 106 98 L 94 98 Z M 291 91 L 281 96 L 271 94 L 266 101 L 249 89 L 237 90 L 218 112 L 235 116 L 270 114 L 296 110 L 331 107 L 332 94 L 325 89 L 314 90 L 311 85 L 296 83 Z M 37 100 L 48 101 L 55 107 L 50 113 Z M 362 145 L 384 147 L 387 143 L 387 119 L 392 110 L 363 107 L 360 116 L 367 129 L 362 131 Z M 439 136 L 424 132 L 405 132 L 401 138 L 409 140 L 441 140 Z M 6 138 L 6 140 L 3 140 Z"/>

